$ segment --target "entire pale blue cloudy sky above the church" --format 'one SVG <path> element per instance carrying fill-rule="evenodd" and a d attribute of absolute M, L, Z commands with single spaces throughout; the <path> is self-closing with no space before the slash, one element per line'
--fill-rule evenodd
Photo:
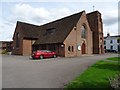
<path fill-rule="evenodd" d="M 0 41 L 11 41 L 16 22 L 42 25 L 83 10 L 102 14 L 104 36 L 118 35 L 119 0 L 0 0 Z M 94 7 L 93 7 L 94 6 Z M 120 33 L 119 33 L 120 34 Z"/>

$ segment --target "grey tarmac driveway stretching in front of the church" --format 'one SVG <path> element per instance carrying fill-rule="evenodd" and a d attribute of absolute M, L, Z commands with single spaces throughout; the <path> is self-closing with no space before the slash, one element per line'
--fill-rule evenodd
<path fill-rule="evenodd" d="M 63 88 L 104 54 L 74 58 L 30 60 L 29 56 L 2 56 L 2 88 Z"/>

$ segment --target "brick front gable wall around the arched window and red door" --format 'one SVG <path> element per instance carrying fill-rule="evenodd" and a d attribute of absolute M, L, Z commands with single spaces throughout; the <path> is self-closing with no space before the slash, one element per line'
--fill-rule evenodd
<path fill-rule="evenodd" d="M 86 39 L 81 38 L 81 27 L 85 25 L 87 30 Z M 81 56 L 81 50 L 78 50 L 77 46 L 82 46 L 83 42 L 86 44 L 86 54 L 92 54 L 92 32 L 90 30 L 88 21 L 86 19 L 86 14 L 83 13 L 80 20 L 70 32 L 66 40 L 65 44 L 65 57 L 73 57 L 73 56 Z M 71 48 L 69 51 L 68 48 Z M 73 46 L 73 51 L 72 51 Z"/>

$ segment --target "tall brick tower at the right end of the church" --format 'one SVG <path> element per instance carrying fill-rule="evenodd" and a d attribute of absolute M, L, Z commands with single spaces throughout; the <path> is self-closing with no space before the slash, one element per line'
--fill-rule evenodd
<path fill-rule="evenodd" d="M 103 23 L 101 14 L 98 11 L 87 14 L 90 28 L 93 32 L 93 53 L 104 53 L 103 46 Z M 102 46 L 102 48 L 101 48 Z"/>

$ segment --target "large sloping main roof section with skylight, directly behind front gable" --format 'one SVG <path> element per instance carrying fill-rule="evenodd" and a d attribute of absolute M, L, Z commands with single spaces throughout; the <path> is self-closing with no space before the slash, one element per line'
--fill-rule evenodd
<path fill-rule="evenodd" d="M 40 26 L 39 39 L 34 44 L 62 43 L 83 12 L 85 11 Z"/>

